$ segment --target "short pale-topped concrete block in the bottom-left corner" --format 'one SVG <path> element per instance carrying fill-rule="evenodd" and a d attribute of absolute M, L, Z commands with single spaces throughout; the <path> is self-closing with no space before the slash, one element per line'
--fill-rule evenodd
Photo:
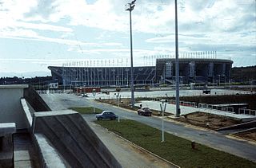
<path fill-rule="evenodd" d="M 0 123 L 0 167 L 14 167 L 15 123 Z"/>

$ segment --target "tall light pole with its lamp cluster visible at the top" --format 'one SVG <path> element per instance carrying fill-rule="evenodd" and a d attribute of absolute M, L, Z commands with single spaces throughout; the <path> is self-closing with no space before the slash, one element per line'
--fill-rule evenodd
<path fill-rule="evenodd" d="M 134 10 L 136 0 L 126 4 L 126 10 L 130 12 L 130 92 L 131 106 L 134 107 L 134 61 L 133 61 L 133 38 L 131 26 L 131 11 Z"/>

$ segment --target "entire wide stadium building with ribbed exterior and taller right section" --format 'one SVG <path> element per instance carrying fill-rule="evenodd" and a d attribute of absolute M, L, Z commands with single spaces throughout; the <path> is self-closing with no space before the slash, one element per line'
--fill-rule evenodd
<path fill-rule="evenodd" d="M 181 84 L 223 83 L 230 80 L 233 61 L 214 58 L 180 58 Z M 49 66 L 53 80 L 65 86 L 125 87 L 130 84 L 130 67 Z M 155 66 L 134 67 L 134 84 L 174 84 L 175 59 L 156 59 Z"/>

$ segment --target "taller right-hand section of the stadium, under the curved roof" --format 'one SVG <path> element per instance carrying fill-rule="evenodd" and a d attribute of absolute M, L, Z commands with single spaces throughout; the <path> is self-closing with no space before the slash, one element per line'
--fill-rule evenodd
<path fill-rule="evenodd" d="M 179 59 L 179 76 L 181 83 L 215 83 L 230 79 L 233 61 L 206 58 Z M 174 83 L 175 59 L 162 58 L 156 61 L 156 82 Z"/>

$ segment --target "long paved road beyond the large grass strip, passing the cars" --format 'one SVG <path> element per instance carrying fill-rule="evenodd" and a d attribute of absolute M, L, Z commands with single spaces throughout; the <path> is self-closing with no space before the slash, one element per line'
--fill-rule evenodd
<path fill-rule="evenodd" d="M 93 105 L 90 100 L 67 94 L 42 95 L 42 98 L 44 98 L 47 103 L 49 102 L 50 107 L 54 105 L 54 107 L 60 107 L 58 109 L 61 109 L 61 107 L 64 109 L 72 106 L 86 107 Z M 54 103 L 56 102 L 55 100 L 58 100 L 59 103 Z M 134 119 L 158 129 L 161 129 L 162 127 L 162 120 L 158 117 L 144 117 L 137 115 L 135 112 L 127 111 L 126 109 L 114 107 L 108 104 L 95 103 L 94 105 L 102 110 L 112 110 L 121 116 L 121 118 Z M 185 139 L 194 140 L 197 143 L 202 143 L 206 146 L 223 150 L 230 154 L 235 154 L 256 162 L 255 143 L 248 143 L 239 139 L 231 139 L 226 135 L 222 135 L 214 131 L 198 130 L 194 127 L 184 126 L 182 123 L 173 123 L 170 121 L 165 122 L 165 128 L 166 131 L 171 134 L 178 135 Z"/>

